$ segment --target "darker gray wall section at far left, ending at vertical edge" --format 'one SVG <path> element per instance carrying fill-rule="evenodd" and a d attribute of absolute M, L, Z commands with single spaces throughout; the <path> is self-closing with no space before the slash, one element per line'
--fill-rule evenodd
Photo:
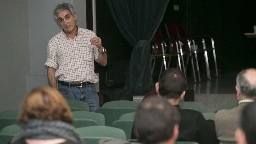
<path fill-rule="evenodd" d="M 29 65 L 27 0 L 2 0 L 0 4 L 0 111 L 18 109 L 26 93 Z"/>

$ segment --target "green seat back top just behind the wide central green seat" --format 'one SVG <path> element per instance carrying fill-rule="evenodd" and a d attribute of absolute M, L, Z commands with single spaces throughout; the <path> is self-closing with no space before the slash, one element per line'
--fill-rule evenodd
<path fill-rule="evenodd" d="M 112 102 L 106 102 L 102 105 L 103 108 L 114 108 L 114 107 L 131 107 L 137 108 L 139 105 L 138 102 L 129 101 L 129 100 L 117 100 Z"/>

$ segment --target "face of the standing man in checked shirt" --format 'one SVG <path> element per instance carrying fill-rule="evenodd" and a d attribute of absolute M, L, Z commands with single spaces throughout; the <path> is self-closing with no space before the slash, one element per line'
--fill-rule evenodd
<path fill-rule="evenodd" d="M 75 30 L 77 20 L 76 14 L 73 17 L 68 10 L 63 10 L 61 13 L 57 14 L 57 19 L 64 32 L 71 33 Z"/>

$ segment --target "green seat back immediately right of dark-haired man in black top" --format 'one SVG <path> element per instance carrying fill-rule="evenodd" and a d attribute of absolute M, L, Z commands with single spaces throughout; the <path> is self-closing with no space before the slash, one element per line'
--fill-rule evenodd
<path fill-rule="evenodd" d="M 205 105 L 200 102 L 179 102 L 179 107 L 181 109 L 191 108 L 205 113 Z"/>

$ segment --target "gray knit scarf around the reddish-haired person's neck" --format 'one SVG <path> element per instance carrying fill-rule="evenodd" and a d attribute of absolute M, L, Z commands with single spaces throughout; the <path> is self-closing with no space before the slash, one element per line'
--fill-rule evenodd
<path fill-rule="evenodd" d="M 54 120 L 32 119 L 21 125 L 21 131 L 11 141 L 11 143 L 21 139 L 54 139 L 65 138 L 74 143 L 83 143 L 75 128 L 69 123 Z"/>

